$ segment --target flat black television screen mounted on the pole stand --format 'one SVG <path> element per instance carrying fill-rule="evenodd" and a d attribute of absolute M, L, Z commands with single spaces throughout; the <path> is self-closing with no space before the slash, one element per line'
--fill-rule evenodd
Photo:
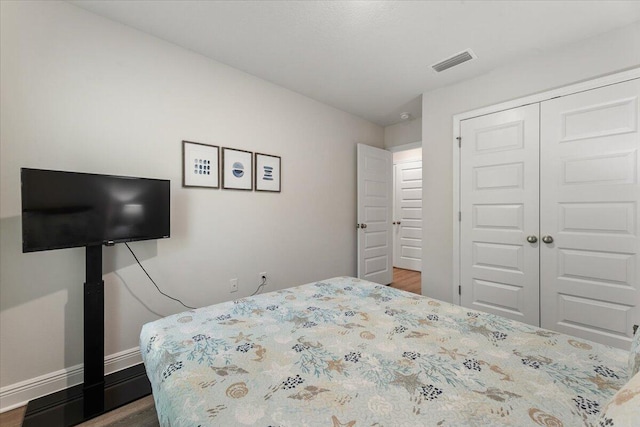
<path fill-rule="evenodd" d="M 22 252 L 170 235 L 170 181 L 21 169 Z"/>

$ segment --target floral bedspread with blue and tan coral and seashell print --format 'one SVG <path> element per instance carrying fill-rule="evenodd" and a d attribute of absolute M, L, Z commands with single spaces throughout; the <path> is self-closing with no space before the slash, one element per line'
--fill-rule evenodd
<path fill-rule="evenodd" d="M 146 324 L 162 426 L 597 425 L 628 353 L 339 277 Z"/>

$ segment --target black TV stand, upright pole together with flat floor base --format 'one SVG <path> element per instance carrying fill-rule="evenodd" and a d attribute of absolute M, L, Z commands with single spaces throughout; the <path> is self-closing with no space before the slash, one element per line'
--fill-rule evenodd
<path fill-rule="evenodd" d="M 151 394 L 142 364 L 104 376 L 102 245 L 85 249 L 84 384 L 30 401 L 23 427 L 76 425 Z"/>

